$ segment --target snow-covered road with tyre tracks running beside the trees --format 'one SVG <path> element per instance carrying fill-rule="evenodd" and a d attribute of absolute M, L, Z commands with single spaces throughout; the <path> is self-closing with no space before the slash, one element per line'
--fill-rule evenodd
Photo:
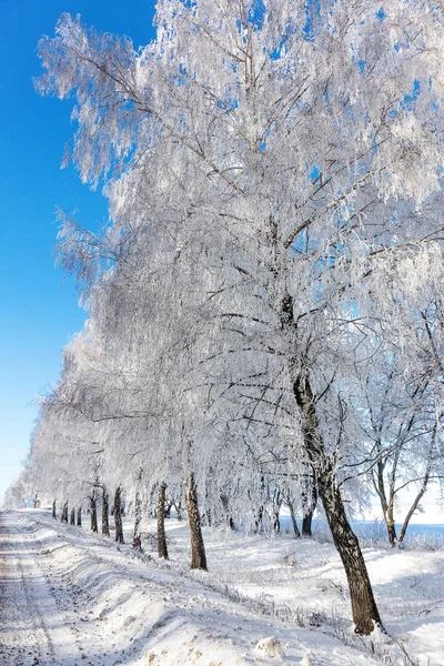
<path fill-rule="evenodd" d="M 37 525 L 0 513 L 0 664 L 4 666 L 68 665 L 82 659 L 73 589 L 53 578 L 37 532 Z"/>

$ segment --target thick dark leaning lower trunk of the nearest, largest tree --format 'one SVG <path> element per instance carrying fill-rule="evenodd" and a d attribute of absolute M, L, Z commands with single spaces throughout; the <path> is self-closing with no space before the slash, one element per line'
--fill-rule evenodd
<path fill-rule="evenodd" d="M 294 396 L 303 415 L 304 444 L 316 471 L 317 491 L 322 500 L 334 545 L 341 556 L 349 582 L 356 634 L 369 635 L 382 622 L 373 596 L 365 561 L 356 535 L 346 517 L 336 484 L 334 462 L 326 454 L 319 432 L 314 395 L 309 379 L 299 375 L 293 384 Z"/>

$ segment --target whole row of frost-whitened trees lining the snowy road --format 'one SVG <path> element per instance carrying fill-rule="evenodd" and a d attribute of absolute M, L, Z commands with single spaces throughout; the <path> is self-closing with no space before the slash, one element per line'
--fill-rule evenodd
<path fill-rule="evenodd" d="M 442 474 L 442 20 L 159 0 L 140 51 L 68 14 L 39 44 L 37 88 L 75 97 L 69 158 L 111 223 L 59 215 L 90 319 L 28 473 L 74 503 L 185 487 L 202 568 L 201 516 L 319 497 L 362 634 L 382 623 L 345 504 L 376 492 L 394 543 L 400 491 L 420 484 L 414 511 Z"/>

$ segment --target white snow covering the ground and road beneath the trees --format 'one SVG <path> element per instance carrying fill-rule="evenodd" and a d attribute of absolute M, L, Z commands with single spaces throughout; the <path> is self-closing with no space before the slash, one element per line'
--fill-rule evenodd
<path fill-rule="evenodd" d="M 210 571 L 189 572 L 186 524 L 167 527 L 159 563 L 151 521 L 135 554 L 43 511 L 0 513 L 0 664 L 444 665 L 443 551 L 365 548 L 392 638 L 363 645 L 331 544 L 205 528 Z M 284 656 L 258 652 L 269 636 Z"/>

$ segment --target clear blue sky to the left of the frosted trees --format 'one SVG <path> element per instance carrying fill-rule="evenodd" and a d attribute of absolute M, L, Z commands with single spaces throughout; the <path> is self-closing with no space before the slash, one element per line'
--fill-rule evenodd
<path fill-rule="evenodd" d="M 33 400 L 58 379 L 61 350 L 87 316 L 72 281 L 54 268 L 54 209 L 77 209 L 88 228 L 108 219 L 100 191 L 72 168 L 60 170 L 71 104 L 32 87 L 37 42 L 64 11 L 135 46 L 154 36 L 154 0 L 0 0 L 0 503 L 28 452 Z"/>

